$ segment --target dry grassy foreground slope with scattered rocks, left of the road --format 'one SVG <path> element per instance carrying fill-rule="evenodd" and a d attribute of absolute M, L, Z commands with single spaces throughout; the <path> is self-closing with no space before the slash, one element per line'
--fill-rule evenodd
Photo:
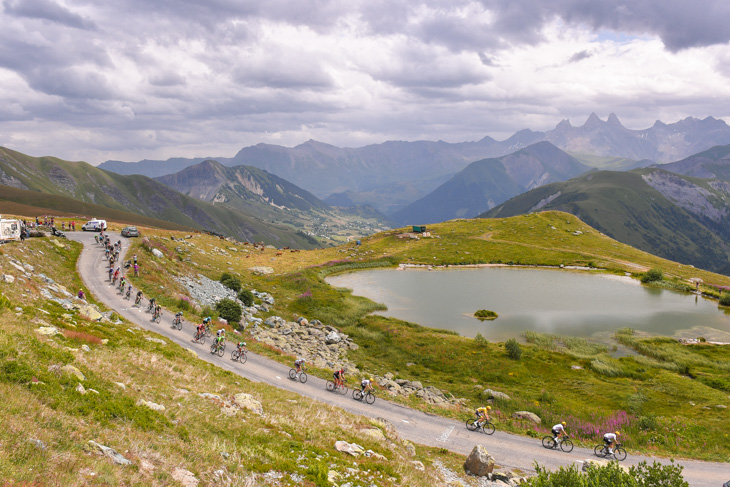
<path fill-rule="evenodd" d="M 0 266 L 12 270 L 7 264 L 12 257 L 34 265 L 34 273 L 46 274 L 57 286 L 76 289 L 80 246 L 65 244 L 60 248 L 47 239 L 9 244 L 0 249 Z M 45 286 L 40 279 L 17 283 L 0 283 L 4 481 L 170 485 L 174 470 L 184 468 L 204 484 L 225 482 L 216 474 L 222 470 L 231 485 L 261 485 L 264 475 L 276 472 L 279 485 L 325 486 L 330 471 L 346 480 L 354 468 L 368 483 L 427 486 L 443 483 L 432 461 L 458 465 L 456 456 L 435 449 L 417 447 L 412 457 L 393 436 L 363 433 L 378 423 L 251 383 L 167 340 L 149 341 L 161 337 L 128 323 L 89 322 L 40 297 Z M 39 335 L 40 326 L 60 333 Z M 60 370 L 66 365 L 85 378 Z M 79 384 L 86 393 L 77 390 Z M 224 401 L 237 393 L 260 401 L 264 415 L 226 407 Z M 142 399 L 166 409 L 154 411 L 139 404 Z M 114 465 L 89 440 L 114 448 L 132 465 Z M 356 442 L 385 459 L 338 453 L 335 440 Z M 425 471 L 416 469 L 415 459 L 426 464 Z"/>

